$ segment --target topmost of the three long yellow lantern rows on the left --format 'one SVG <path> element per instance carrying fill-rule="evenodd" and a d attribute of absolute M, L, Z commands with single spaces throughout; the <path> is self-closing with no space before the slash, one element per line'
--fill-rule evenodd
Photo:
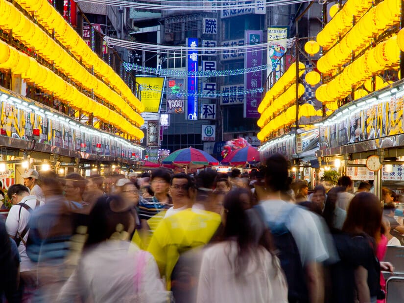
<path fill-rule="evenodd" d="M 62 45 L 69 48 L 78 59 L 81 59 L 88 69 L 94 68 L 95 74 L 119 92 L 132 107 L 139 109 L 140 112 L 144 111 L 144 105 L 135 97 L 119 75 L 91 50 L 48 0 L 16 0 L 16 2 L 27 12 L 34 13 L 35 19 L 49 33 L 54 30 L 56 39 Z"/>

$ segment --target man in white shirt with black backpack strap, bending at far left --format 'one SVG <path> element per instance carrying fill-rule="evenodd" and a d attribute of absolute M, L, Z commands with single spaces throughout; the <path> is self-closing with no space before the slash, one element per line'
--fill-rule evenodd
<path fill-rule="evenodd" d="M 14 184 L 7 190 L 7 196 L 13 206 L 8 213 L 5 226 L 8 235 L 14 239 L 20 253 L 20 273 L 22 287 L 29 287 L 31 284 L 30 271 L 33 264 L 26 254 L 26 241 L 28 238 L 29 227 L 28 222 L 31 212 L 36 208 L 44 205 L 43 201 L 39 201 L 36 196 L 29 194 L 28 187 L 22 184 Z"/>

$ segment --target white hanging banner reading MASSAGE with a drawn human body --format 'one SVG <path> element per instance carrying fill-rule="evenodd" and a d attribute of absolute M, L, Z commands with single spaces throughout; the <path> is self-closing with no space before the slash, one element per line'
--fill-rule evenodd
<path fill-rule="evenodd" d="M 271 80 L 272 83 L 275 83 L 281 76 L 282 66 L 284 64 L 284 59 L 281 59 L 281 57 L 286 52 L 287 26 L 268 27 L 267 38 L 268 51 L 266 63 L 268 65 L 268 69 L 266 72 L 266 77 L 268 77 L 270 73 L 274 71 L 275 75 L 271 78 Z"/>

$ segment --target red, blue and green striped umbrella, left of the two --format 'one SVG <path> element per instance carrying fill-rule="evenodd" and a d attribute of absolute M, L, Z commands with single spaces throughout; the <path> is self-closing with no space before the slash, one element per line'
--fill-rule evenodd
<path fill-rule="evenodd" d="M 180 167 L 201 168 L 218 165 L 219 161 L 203 150 L 188 147 L 176 150 L 162 161 L 163 164 L 173 164 Z"/>

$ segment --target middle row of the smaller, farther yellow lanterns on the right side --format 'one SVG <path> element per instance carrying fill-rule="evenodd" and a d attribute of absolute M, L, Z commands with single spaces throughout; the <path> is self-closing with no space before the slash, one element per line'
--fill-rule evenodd
<path fill-rule="evenodd" d="M 303 84 L 299 83 L 298 95 L 299 98 L 305 93 L 305 87 Z M 292 84 L 285 93 L 281 94 L 276 98 L 270 106 L 268 106 L 265 111 L 261 114 L 261 117 L 257 121 L 257 125 L 262 127 L 265 125 L 266 121 L 271 118 L 274 114 L 277 114 L 283 108 L 287 108 L 290 104 L 296 102 L 296 84 Z"/>

